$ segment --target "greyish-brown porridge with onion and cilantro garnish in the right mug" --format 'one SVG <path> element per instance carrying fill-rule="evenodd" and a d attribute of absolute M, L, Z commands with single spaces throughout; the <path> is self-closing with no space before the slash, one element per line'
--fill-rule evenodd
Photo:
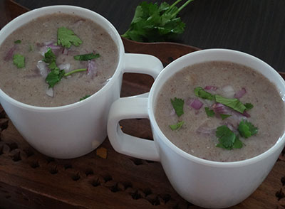
<path fill-rule="evenodd" d="M 284 101 L 263 75 L 237 63 L 183 68 L 162 86 L 155 119 L 167 139 L 193 156 L 241 161 L 273 146 L 284 132 Z"/>

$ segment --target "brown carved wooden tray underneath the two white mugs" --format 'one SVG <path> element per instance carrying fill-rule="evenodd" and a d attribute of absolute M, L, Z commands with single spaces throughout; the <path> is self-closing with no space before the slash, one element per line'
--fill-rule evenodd
<path fill-rule="evenodd" d="M 1 26 L 27 11 L 13 1 L 5 1 L 0 8 L 4 9 Z M 177 43 L 123 42 L 126 52 L 155 55 L 164 65 L 198 50 Z M 147 75 L 125 74 L 121 96 L 147 92 L 152 82 Z M 128 134 L 152 139 L 146 119 L 125 120 L 121 125 Z M 107 157 L 100 151 L 106 151 Z M 257 191 L 232 208 L 285 208 L 284 154 Z M 118 154 L 108 139 L 77 159 L 43 156 L 24 141 L 0 106 L 0 208 L 199 207 L 174 191 L 160 163 Z"/>

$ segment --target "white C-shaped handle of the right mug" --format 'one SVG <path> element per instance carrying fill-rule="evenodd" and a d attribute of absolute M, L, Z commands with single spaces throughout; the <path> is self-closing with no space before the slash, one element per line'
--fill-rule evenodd
<path fill-rule="evenodd" d="M 147 98 L 124 97 L 110 107 L 108 118 L 108 138 L 115 151 L 128 156 L 150 161 L 160 161 L 155 141 L 124 134 L 119 122 L 122 119 L 149 118 Z"/>

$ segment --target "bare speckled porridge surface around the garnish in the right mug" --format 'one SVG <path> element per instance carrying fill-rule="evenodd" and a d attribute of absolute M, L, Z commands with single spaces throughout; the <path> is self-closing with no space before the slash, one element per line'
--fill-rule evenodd
<path fill-rule="evenodd" d="M 245 87 L 247 93 L 240 98 L 243 103 L 250 102 L 254 108 L 248 112 L 247 118 L 259 131 L 248 139 L 241 138 L 244 143 L 242 149 L 226 150 L 216 147 L 218 143 L 215 128 L 231 122 L 231 117 L 225 119 L 207 117 L 204 107 L 211 107 L 206 100 L 199 110 L 184 105 L 184 114 L 180 118 L 172 112 L 170 98 L 182 98 L 185 102 L 192 97 L 195 87 L 213 85 L 218 87 L 213 94 L 223 95 L 222 87 L 231 85 L 235 92 Z M 209 91 L 211 92 L 211 91 Z M 244 65 L 227 62 L 199 63 L 189 66 L 175 73 L 161 87 L 155 103 L 155 119 L 163 134 L 173 144 L 183 151 L 202 159 L 212 161 L 240 161 L 257 156 L 273 146 L 284 132 L 285 114 L 284 101 L 279 91 L 266 77 Z M 184 121 L 182 128 L 172 131 L 170 124 Z M 214 129 L 210 134 L 197 132 L 201 127 Z"/>

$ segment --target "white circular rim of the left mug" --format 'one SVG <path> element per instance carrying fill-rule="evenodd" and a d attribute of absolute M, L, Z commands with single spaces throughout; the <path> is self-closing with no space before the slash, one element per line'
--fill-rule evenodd
<path fill-rule="evenodd" d="M 0 88 L 0 97 L 3 97 L 3 99 L 6 100 L 7 102 L 10 102 L 10 103 L 16 105 L 17 107 L 21 107 L 24 109 L 33 109 L 33 110 L 36 110 L 38 112 L 54 112 L 54 111 L 61 111 L 64 109 L 73 109 L 76 107 L 81 107 L 83 104 L 86 104 L 86 102 L 90 101 L 91 98 L 96 97 L 96 96 L 98 97 L 99 95 L 104 94 L 111 87 L 111 85 L 113 85 L 113 83 L 116 80 L 116 77 L 118 79 L 118 77 L 120 75 L 121 70 L 119 70 L 119 69 L 123 69 L 123 56 L 125 54 L 123 41 L 120 38 L 120 34 L 118 33 L 115 26 L 113 26 L 113 24 L 110 23 L 110 21 L 108 21 L 107 18 L 105 18 L 104 16 L 102 16 L 102 15 L 98 14 L 97 12 L 92 11 L 90 9 L 86 9 L 86 8 L 81 7 L 81 6 L 54 5 L 54 6 L 43 6 L 43 7 L 38 8 L 38 9 L 33 9 L 31 11 L 27 11 L 26 13 L 21 14 L 20 16 L 17 16 L 12 21 L 7 23 L 3 28 L 1 28 L 1 30 L 0 30 L 0 41 L 1 41 L 1 36 L 5 36 L 5 38 L 3 38 L 3 41 L 1 41 L 1 43 L 3 43 L 5 41 L 5 39 L 11 33 L 16 31 L 16 29 L 20 28 L 21 26 L 24 26 L 24 24 L 32 21 L 34 18 L 45 16 L 47 14 L 55 14 L 58 12 L 60 12 L 61 14 L 72 14 L 73 12 L 76 12 L 76 11 L 77 11 L 76 16 L 82 16 L 83 18 L 87 18 L 81 14 L 81 13 L 84 13 L 84 14 L 89 15 L 88 18 L 91 21 L 94 21 L 94 18 L 98 18 L 99 21 L 103 21 L 103 24 L 98 23 L 97 21 L 94 21 L 94 22 L 98 23 L 100 26 L 103 26 L 103 28 L 106 31 L 108 31 L 106 29 L 106 27 L 110 28 L 110 31 L 108 31 L 108 33 L 113 34 L 114 37 L 117 39 L 117 40 L 115 40 L 115 38 L 112 37 L 113 41 L 115 42 L 115 45 L 117 45 L 117 47 L 118 47 L 118 64 L 117 64 L 117 67 L 115 68 L 113 75 L 110 77 L 110 80 L 103 87 L 101 87 L 100 90 L 95 92 L 93 95 L 90 95 L 90 97 L 86 98 L 85 100 L 73 102 L 71 104 L 56 106 L 56 107 L 41 107 L 41 106 L 34 106 L 31 104 L 26 104 L 24 102 L 20 102 L 18 100 L 15 100 L 13 97 L 10 97 L 9 95 L 7 95 L 3 90 L 1 90 L 1 88 Z M 35 14 L 36 14 L 36 16 L 35 16 Z M 19 21 L 22 21 L 23 18 L 28 19 L 28 21 L 25 21 L 24 24 L 18 25 Z M 106 27 L 104 27 L 104 25 Z M 7 31 L 9 31 L 9 28 L 11 28 L 11 27 L 15 27 L 15 29 L 13 31 L 11 31 L 9 33 L 9 35 L 6 35 Z M 1 43 L 0 43 L 0 45 L 1 45 Z"/>

